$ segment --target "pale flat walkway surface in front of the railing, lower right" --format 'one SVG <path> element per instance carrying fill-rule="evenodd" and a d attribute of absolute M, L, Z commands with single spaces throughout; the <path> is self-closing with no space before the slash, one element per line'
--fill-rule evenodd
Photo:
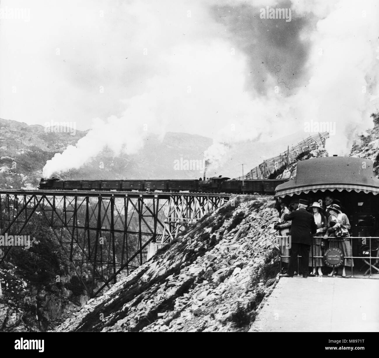
<path fill-rule="evenodd" d="M 379 280 L 282 277 L 250 331 L 379 332 Z"/>

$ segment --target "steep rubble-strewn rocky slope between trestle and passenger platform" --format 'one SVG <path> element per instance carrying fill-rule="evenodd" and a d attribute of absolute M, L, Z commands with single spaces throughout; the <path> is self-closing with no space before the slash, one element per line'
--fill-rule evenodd
<path fill-rule="evenodd" d="M 267 197 L 233 197 L 56 331 L 247 331 L 276 284 Z"/>

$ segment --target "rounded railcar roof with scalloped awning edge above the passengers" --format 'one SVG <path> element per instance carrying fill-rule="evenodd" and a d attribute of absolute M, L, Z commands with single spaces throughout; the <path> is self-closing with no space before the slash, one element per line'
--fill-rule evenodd
<path fill-rule="evenodd" d="M 296 178 L 280 184 L 275 196 L 316 192 L 318 190 L 363 191 L 379 194 L 379 179 L 373 172 L 373 161 L 352 157 L 326 157 L 297 163 Z"/>

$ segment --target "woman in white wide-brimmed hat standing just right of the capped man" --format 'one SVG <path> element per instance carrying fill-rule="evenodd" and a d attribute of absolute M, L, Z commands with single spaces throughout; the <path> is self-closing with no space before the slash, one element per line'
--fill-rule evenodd
<path fill-rule="evenodd" d="M 318 275 L 323 276 L 323 272 L 321 271 L 321 266 L 324 266 L 324 262 L 322 258 L 323 253 L 321 249 L 322 238 L 317 237 L 317 236 L 324 235 L 324 232 L 326 232 L 326 229 L 327 229 L 327 221 L 323 214 L 324 209 L 321 207 L 321 205 L 317 201 L 313 202 L 313 204 L 309 207 L 309 209 L 312 209 L 313 211 L 313 219 L 315 220 L 315 224 L 317 226 L 317 231 L 315 234 L 316 237 L 313 238 L 313 245 L 312 245 L 313 257 L 315 258 L 314 259 L 312 259 L 312 257 L 309 258 L 309 266 L 314 265 L 313 272 L 312 272 L 313 275 L 316 274 L 316 270 L 317 270 Z"/>

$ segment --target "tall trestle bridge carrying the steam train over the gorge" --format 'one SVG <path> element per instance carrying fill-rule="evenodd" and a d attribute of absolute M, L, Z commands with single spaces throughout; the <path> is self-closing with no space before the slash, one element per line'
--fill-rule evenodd
<path fill-rule="evenodd" d="M 1 235 L 25 232 L 39 215 L 51 227 L 90 297 L 142 265 L 149 244 L 168 243 L 229 194 L 0 190 Z M 38 239 L 38 238 L 37 238 Z M 0 265 L 13 246 L 0 247 Z"/>

